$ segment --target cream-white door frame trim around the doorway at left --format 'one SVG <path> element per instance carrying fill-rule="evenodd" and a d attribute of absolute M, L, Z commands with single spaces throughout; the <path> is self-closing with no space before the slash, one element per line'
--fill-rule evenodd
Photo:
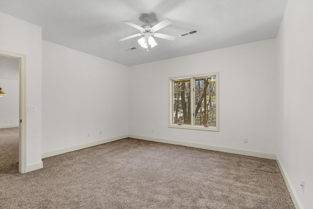
<path fill-rule="evenodd" d="M 27 149 L 26 149 L 26 56 L 14 52 L 0 50 L 0 55 L 14 57 L 20 60 L 20 141 L 19 141 L 19 172 L 26 173 Z"/>

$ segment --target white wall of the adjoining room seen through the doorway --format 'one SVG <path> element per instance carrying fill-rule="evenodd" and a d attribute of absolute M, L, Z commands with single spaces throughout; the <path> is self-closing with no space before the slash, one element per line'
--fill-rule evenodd
<path fill-rule="evenodd" d="M 1 79 L 2 91 L 6 94 L 0 97 L 0 128 L 19 126 L 19 81 Z"/>

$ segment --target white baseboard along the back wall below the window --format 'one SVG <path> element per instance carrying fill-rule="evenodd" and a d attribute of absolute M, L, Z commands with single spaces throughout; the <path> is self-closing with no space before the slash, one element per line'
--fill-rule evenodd
<path fill-rule="evenodd" d="M 170 140 L 170 139 L 158 139 L 158 138 L 143 137 L 143 136 L 136 136 L 136 135 L 129 135 L 129 137 L 134 138 L 134 139 L 143 139 L 143 140 L 148 140 L 148 141 L 156 141 L 156 142 L 162 142 L 162 143 L 168 143 L 168 144 L 177 144 L 177 145 L 195 147 L 195 148 L 200 148 L 200 149 L 207 149 L 207 150 L 227 152 L 227 153 L 238 154 L 238 155 L 246 155 L 246 156 L 265 158 L 265 159 L 270 159 L 270 160 L 277 160 L 277 157 L 275 154 L 266 153 L 266 152 L 255 152 L 255 151 L 249 151 L 249 150 L 234 149 L 234 148 L 207 145 L 207 144 L 197 144 L 197 143 Z"/>

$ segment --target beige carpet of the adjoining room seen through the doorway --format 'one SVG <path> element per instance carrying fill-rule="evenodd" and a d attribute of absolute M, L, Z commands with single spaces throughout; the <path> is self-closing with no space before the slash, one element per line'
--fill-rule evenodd
<path fill-rule="evenodd" d="M 19 128 L 0 129 L 0 176 L 19 172 Z"/>

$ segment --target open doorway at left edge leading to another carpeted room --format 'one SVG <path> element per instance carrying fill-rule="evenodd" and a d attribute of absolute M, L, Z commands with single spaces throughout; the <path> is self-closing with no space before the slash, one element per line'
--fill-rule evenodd
<path fill-rule="evenodd" d="M 1 160 L 8 173 L 27 172 L 25 75 L 25 55 L 0 50 L 0 86 L 6 94 L 0 97 L 0 134 L 5 144 L 0 149 L 5 149 Z"/>

